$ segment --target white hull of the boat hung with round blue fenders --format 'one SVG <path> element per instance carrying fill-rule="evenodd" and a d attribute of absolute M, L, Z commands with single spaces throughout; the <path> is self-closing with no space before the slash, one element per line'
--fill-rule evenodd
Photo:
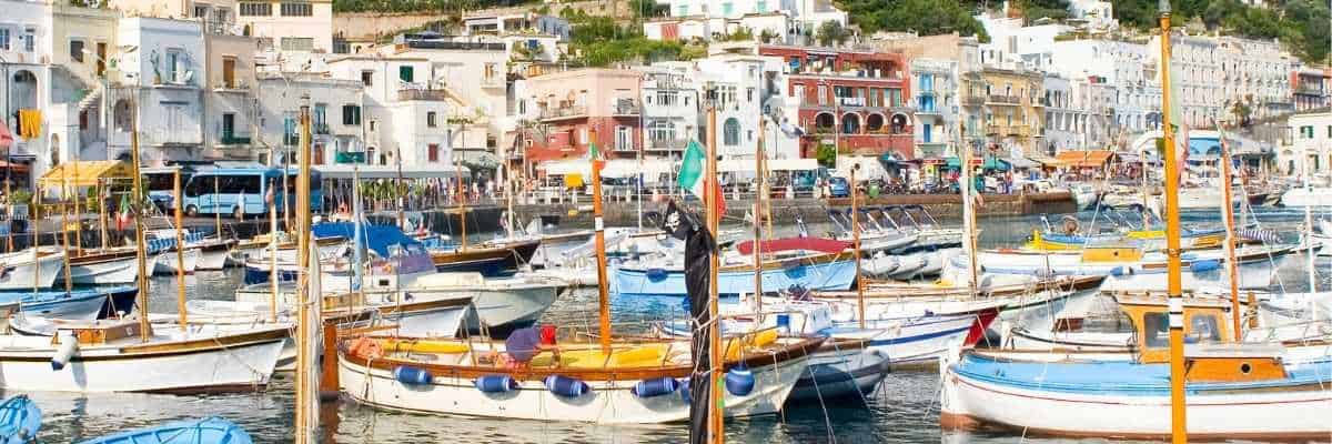
<path fill-rule="evenodd" d="M 754 389 L 746 396 L 726 393 L 726 416 L 775 413 L 782 408 L 807 359 L 753 368 Z M 591 391 L 578 397 L 551 393 L 541 381 L 521 381 L 507 393 L 485 393 L 470 379 L 440 375 L 429 385 L 406 385 L 392 371 L 366 369 L 338 359 L 342 392 L 362 404 L 381 408 L 482 417 L 597 424 L 657 424 L 689 420 L 689 403 L 677 393 L 638 397 L 637 381 L 585 381 Z"/>

